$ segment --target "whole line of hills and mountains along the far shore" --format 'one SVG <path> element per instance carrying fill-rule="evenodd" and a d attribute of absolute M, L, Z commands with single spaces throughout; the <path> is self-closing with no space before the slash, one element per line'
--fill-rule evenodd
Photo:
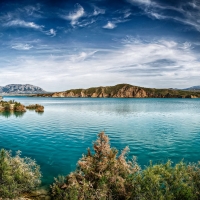
<path fill-rule="evenodd" d="M 48 93 L 42 88 L 30 84 L 10 84 L 0 86 L 0 95 L 25 95 L 45 97 L 133 97 L 133 98 L 200 98 L 200 86 L 186 89 L 156 89 L 118 84 L 107 87 L 71 89 L 64 92 Z"/>

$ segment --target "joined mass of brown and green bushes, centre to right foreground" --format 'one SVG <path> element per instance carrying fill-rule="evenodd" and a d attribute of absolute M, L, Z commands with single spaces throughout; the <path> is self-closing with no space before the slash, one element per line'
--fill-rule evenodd
<path fill-rule="evenodd" d="M 128 148 L 118 156 L 102 132 L 79 161 L 77 170 L 59 176 L 51 186 L 57 200 L 198 200 L 200 199 L 200 163 L 150 165 L 141 170 L 133 160 L 125 159 Z"/>

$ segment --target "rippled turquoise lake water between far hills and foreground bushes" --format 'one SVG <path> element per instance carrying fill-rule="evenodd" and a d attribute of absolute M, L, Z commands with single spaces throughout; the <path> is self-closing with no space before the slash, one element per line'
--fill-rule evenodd
<path fill-rule="evenodd" d="M 45 106 L 43 114 L 0 113 L 0 148 L 22 151 L 37 161 L 43 184 L 67 175 L 105 131 L 119 150 L 141 166 L 153 162 L 200 160 L 200 99 L 91 99 L 5 97 Z"/>

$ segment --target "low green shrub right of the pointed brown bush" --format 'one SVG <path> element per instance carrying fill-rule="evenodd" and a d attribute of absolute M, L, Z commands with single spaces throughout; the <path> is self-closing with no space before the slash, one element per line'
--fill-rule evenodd
<path fill-rule="evenodd" d="M 146 167 L 139 174 L 132 176 L 132 198 L 141 200 L 192 200 L 198 199 L 195 181 L 189 168 L 182 161 L 172 166 L 171 161 L 165 164 L 157 164 Z M 133 198 L 134 199 L 134 198 Z"/>

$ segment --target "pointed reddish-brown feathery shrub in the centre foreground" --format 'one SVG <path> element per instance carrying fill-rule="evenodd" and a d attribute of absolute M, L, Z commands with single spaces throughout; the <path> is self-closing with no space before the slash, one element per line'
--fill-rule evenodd
<path fill-rule="evenodd" d="M 75 172 L 55 179 L 51 186 L 54 199 L 126 199 L 130 195 L 126 179 L 137 173 L 139 166 L 126 161 L 128 148 L 117 156 L 118 151 L 110 147 L 108 137 L 102 132 L 94 143 L 94 151 L 92 154 L 88 149 Z"/>

